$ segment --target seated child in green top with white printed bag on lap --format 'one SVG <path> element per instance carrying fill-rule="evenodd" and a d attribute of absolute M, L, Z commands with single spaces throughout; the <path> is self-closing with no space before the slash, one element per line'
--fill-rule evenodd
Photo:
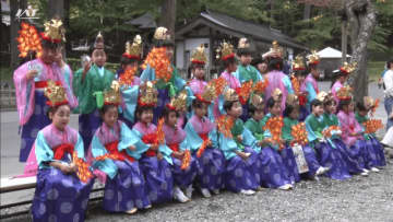
<path fill-rule="evenodd" d="M 315 151 L 309 145 L 306 125 L 298 120 L 299 105 L 291 103 L 294 101 L 295 98 L 287 100 L 284 110 L 283 140 L 286 149 L 282 150 L 281 155 L 291 180 L 299 182 L 301 174 L 318 179 L 329 167 L 320 165 Z"/>

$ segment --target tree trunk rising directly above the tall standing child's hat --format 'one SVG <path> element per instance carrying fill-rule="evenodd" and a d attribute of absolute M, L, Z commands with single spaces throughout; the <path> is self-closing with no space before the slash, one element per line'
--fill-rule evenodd
<path fill-rule="evenodd" d="M 164 0 L 160 13 L 159 24 L 168 28 L 170 37 L 175 40 L 176 0 Z"/>

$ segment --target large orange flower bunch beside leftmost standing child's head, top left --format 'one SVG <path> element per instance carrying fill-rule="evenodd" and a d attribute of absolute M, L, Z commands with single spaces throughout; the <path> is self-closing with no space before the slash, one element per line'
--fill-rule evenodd
<path fill-rule="evenodd" d="M 34 25 L 22 22 L 21 30 L 19 31 L 20 36 L 16 38 L 20 50 L 20 57 L 25 58 L 29 51 L 36 51 L 36 57 L 39 58 L 43 54 L 43 47 L 40 44 L 39 34 Z"/>

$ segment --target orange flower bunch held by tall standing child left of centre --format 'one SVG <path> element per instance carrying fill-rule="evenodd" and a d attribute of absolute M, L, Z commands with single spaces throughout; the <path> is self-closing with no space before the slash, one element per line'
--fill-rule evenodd
<path fill-rule="evenodd" d="M 154 47 L 152 51 L 148 52 L 142 68 L 146 69 L 147 65 L 155 70 L 156 79 L 164 80 L 164 82 L 170 80 L 174 68 L 170 65 L 165 47 Z"/>

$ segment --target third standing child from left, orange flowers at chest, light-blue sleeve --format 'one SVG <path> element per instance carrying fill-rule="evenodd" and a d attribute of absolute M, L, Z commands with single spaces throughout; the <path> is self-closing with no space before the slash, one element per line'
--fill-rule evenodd
<path fill-rule="evenodd" d="M 135 122 L 135 109 L 138 104 L 139 85 L 141 80 L 138 77 L 138 63 L 142 59 L 142 38 L 136 35 L 133 43 L 127 42 L 126 52 L 121 57 L 122 68 L 119 72 L 119 83 L 121 85 L 121 115 L 120 119 L 128 127 L 132 127 Z"/>

